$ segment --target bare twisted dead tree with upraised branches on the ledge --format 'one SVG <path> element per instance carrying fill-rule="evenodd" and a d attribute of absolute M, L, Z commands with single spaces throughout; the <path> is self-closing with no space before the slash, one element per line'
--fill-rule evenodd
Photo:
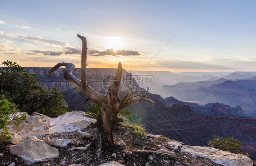
<path fill-rule="evenodd" d="M 51 68 L 47 76 L 50 77 L 51 73 L 54 72 L 57 68 L 61 66 L 66 66 L 63 69 L 63 74 L 67 82 L 71 83 L 72 86 L 77 89 L 80 93 L 84 94 L 87 99 L 91 100 L 94 103 L 97 103 L 102 107 L 102 112 L 97 118 L 97 148 L 98 148 L 98 157 L 101 154 L 102 147 L 113 146 L 113 126 L 114 122 L 117 119 L 118 112 L 124 107 L 127 107 L 131 103 L 145 100 L 154 104 L 154 102 L 147 98 L 148 90 L 144 95 L 141 93 L 135 93 L 131 88 L 124 98 L 120 99 L 119 89 L 121 78 L 123 74 L 122 64 L 118 63 L 118 68 L 116 72 L 116 77 L 113 80 L 111 86 L 108 89 L 107 94 L 101 94 L 95 91 L 88 85 L 86 79 L 86 66 L 87 66 L 87 40 L 84 36 L 77 34 L 77 36 L 82 40 L 82 59 L 81 59 L 81 81 L 76 78 L 72 71 L 76 70 L 76 67 L 73 63 L 58 63 L 53 68 Z"/>

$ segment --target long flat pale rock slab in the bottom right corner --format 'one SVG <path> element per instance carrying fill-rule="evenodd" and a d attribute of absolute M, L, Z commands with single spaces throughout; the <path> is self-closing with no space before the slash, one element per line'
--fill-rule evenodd
<path fill-rule="evenodd" d="M 208 158 L 223 166 L 253 166 L 253 161 L 245 155 L 221 151 L 213 147 L 184 145 L 180 151 L 187 152 L 192 156 Z"/>

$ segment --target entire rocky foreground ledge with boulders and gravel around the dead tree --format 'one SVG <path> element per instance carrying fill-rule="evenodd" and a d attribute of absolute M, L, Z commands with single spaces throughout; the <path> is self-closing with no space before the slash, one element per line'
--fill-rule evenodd
<path fill-rule="evenodd" d="M 119 118 L 126 121 L 124 117 Z M 0 165 L 253 166 L 247 156 L 212 147 L 187 146 L 152 134 L 136 138 L 129 125 L 114 128 L 117 146 L 103 149 L 98 160 L 93 141 L 94 123 L 94 119 L 80 111 L 57 118 L 34 113 L 19 127 L 10 127 L 13 138 L 0 143 Z"/>

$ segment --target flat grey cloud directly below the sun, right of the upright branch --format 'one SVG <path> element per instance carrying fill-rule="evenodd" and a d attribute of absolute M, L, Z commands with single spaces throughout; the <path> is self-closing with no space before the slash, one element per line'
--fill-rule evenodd
<path fill-rule="evenodd" d="M 113 55 L 113 56 L 117 56 L 117 55 L 130 56 L 130 55 L 134 55 L 134 56 L 138 56 L 138 55 L 142 55 L 142 53 L 140 53 L 138 51 L 125 50 L 125 49 L 118 49 L 116 51 L 114 49 L 105 49 L 105 50 L 89 49 L 88 50 L 88 54 L 92 55 L 92 56 L 102 56 L 102 55 Z"/>

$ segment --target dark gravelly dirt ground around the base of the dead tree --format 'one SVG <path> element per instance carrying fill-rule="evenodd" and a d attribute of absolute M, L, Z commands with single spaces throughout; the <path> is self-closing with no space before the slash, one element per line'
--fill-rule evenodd
<path fill-rule="evenodd" d="M 82 132 L 93 133 L 95 132 L 95 127 L 87 127 L 87 129 L 83 130 Z M 58 158 L 51 161 L 37 162 L 34 164 L 34 166 L 69 166 L 72 164 L 81 164 L 83 166 L 98 166 L 102 163 L 110 161 L 117 161 L 125 166 L 220 166 L 210 161 L 209 159 L 190 156 L 187 153 L 182 154 L 180 151 L 174 151 L 178 161 L 163 154 L 138 153 L 136 152 L 137 150 L 159 150 L 159 145 L 166 146 L 169 139 L 166 137 L 154 137 L 150 134 L 146 134 L 143 138 L 134 138 L 133 129 L 130 127 L 120 126 L 119 128 L 114 128 L 114 140 L 119 140 L 121 138 L 127 144 L 127 146 L 113 146 L 108 149 L 103 149 L 100 160 L 98 160 L 96 157 L 97 148 L 92 141 L 92 137 L 82 137 L 80 132 L 75 131 L 47 134 L 38 136 L 37 138 L 43 139 L 45 137 L 62 139 L 68 138 L 71 139 L 72 142 L 66 147 L 55 146 L 59 151 Z M 88 144 L 90 144 L 90 146 L 84 151 L 75 149 L 76 147 L 86 146 Z M 12 162 L 15 162 L 15 166 L 26 165 L 20 157 L 10 153 L 10 146 L 10 143 L 0 143 L 0 154 L 3 153 L 2 156 L 0 155 L 0 165 L 8 166 Z M 168 150 L 172 151 L 171 149 Z M 132 154 L 129 154 L 127 151 L 131 151 Z M 150 155 L 153 156 L 152 161 L 148 159 Z"/>

